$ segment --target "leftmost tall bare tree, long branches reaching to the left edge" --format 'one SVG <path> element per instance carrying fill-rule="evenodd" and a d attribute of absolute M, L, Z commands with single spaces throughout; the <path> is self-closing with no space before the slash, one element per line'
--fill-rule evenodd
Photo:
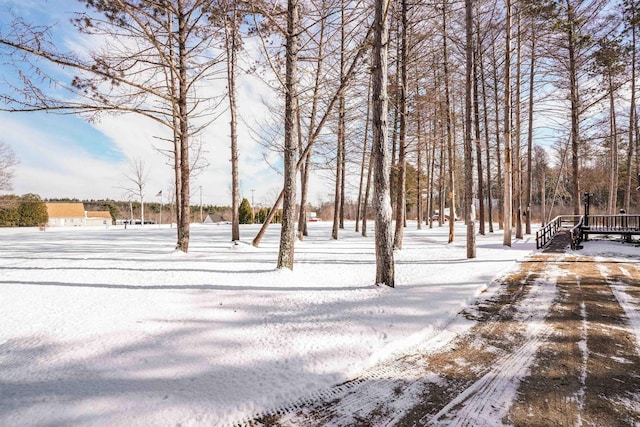
<path fill-rule="evenodd" d="M 189 249 L 191 138 L 215 119 L 218 99 L 198 89 L 217 72 L 217 28 L 209 13 L 213 0 L 82 0 L 87 9 L 73 23 L 96 43 L 86 56 L 63 52 L 50 29 L 16 19 L 0 34 L 23 79 L 0 98 L 9 111 L 91 114 L 130 112 L 165 126 L 171 134 L 176 182 L 178 241 Z M 96 47 L 97 46 L 97 47 Z M 77 73 L 60 81 L 38 61 Z M 31 67 L 25 72 L 25 67 Z M 47 92 L 47 84 L 72 96 Z"/>

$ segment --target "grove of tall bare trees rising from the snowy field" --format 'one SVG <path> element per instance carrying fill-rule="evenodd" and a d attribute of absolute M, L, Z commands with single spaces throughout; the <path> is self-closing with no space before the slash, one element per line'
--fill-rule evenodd
<path fill-rule="evenodd" d="M 420 228 L 448 222 L 450 242 L 461 213 L 471 258 L 476 225 L 483 235 L 497 224 L 510 246 L 532 222 L 579 214 L 584 191 L 609 213 L 640 205 L 636 0 L 83 3 L 78 31 L 115 39 L 89 57 L 60 51 L 50 29 L 26 18 L 0 31 L 0 53 L 22 76 L 2 93 L 3 109 L 133 112 L 165 125 L 180 250 L 198 167 L 191 141 L 219 106 L 197 89 L 214 78 L 227 80 L 218 95 L 228 99 L 231 238 L 240 238 L 236 80 L 246 78 L 238 56 L 256 56 L 243 50 L 249 38 L 281 95 L 268 149 L 282 155 L 283 189 L 254 239 L 282 204 L 279 268 L 293 268 L 307 234 L 314 169 L 334 180 L 334 239 L 354 189 L 363 236 L 374 210 L 376 283 L 389 286 L 409 213 Z M 59 82 L 51 64 L 77 76 Z M 48 82 L 73 96 L 52 98 Z"/>

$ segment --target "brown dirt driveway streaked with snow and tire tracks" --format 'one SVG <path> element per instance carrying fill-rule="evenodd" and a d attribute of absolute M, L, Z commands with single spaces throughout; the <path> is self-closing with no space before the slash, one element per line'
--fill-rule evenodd
<path fill-rule="evenodd" d="M 640 263 L 536 254 L 501 282 L 412 354 L 252 424 L 640 426 Z"/>

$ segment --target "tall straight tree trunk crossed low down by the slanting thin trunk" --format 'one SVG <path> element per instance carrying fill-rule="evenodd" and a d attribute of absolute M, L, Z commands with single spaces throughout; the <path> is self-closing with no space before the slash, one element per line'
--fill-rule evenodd
<path fill-rule="evenodd" d="M 287 40 L 285 77 L 285 129 L 284 129 L 284 191 L 282 203 L 282 229 L 278 250 L 279 269 L 293 270 L 296 237 L 296 97 L 298 62 L 298 0 L 287 2 Z"/>

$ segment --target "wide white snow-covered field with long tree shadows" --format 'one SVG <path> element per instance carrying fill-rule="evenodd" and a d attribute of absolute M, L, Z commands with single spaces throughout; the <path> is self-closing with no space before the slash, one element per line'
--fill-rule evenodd
<path fill-rule="evenodd" d="M 371 224 L 370 224 L 371 226 Z M 279 227 L 0 229 L 0 425 L 223 425 L 353 378 L 435 336 L 535 250 L 464 225 L 405 229 L 396 288 L 373 237 L 309 224 L 294 271 Z M 373 231 L 369 233 L 373 236 Z"/>

